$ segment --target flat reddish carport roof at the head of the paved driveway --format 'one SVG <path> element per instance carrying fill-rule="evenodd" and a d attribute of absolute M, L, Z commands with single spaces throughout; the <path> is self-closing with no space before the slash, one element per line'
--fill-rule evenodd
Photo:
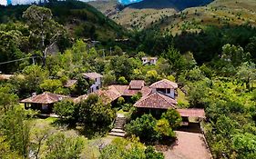
<path fill-rule="evenodd" d="M 204 109 L 196 109 L 196 108 L 177 109 L 177 111 L 183 117 L 200 117 L 200 118 L 205 118 Z"/>

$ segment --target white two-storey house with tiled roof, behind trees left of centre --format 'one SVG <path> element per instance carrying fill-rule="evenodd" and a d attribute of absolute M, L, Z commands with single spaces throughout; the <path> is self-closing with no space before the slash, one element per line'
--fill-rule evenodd
<path fill-rule="evenodd" d="M 86 73 L 83 76 L 89 81 L 93 81 L 94 84 L 90 86 L 88 93 L 94 93 L 101 88 L 103 75 L 97 73 Z"/>

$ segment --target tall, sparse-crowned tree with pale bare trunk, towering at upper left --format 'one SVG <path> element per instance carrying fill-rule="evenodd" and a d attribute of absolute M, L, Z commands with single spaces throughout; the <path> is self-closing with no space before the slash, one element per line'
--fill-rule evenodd
<path fill-rule="evenodd" d="M 35 41 L 43 55 L 43 65 L 46 65 L 46 54 L 48 49 L 56 45 L 61 35 L 66 35 L 62 25 L 53 20 L 50 9 L 36 5 L 29 6 L 23 14 L 27 25 L 31 30 L 31 41 Z"/>

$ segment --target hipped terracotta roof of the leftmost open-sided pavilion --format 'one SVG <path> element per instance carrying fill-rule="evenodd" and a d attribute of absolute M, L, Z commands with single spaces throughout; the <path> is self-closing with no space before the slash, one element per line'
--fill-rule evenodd
<path fill-rule="evenodd" d="M 61 94 L 44 93 L 44 94 L 31 96 L 20 102 L 27 103 L 27 104 L 54 104 L 56 102 L 61 101 L 64 98 L 68 98 L 68 96 L 61 95 Z"/>

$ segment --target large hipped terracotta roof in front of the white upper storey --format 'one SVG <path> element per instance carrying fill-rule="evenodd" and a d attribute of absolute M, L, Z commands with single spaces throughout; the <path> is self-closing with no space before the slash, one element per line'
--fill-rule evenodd
<path fill-rule="evenodd" d="M 155 108 L 155 109 L 169 109 L 176 108 L 177 101 L 158 92 L 149 94 L 138 100 L 136 107 L 141 108 Z"/>

